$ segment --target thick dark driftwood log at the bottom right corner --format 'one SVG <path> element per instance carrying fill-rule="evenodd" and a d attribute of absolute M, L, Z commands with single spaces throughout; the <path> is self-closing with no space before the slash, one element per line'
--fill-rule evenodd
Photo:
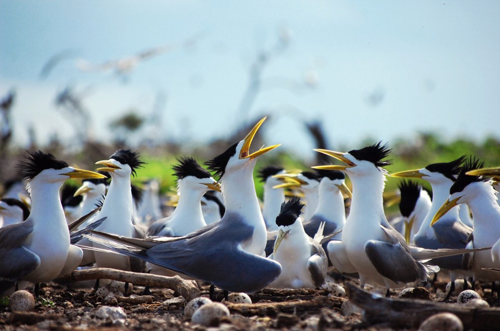
<path fill-rule="evenodd" d="M 493 330 L 500 325 L 499 308 L 472 308 L 464 305 L 443 304 L 424 300 L 384 298 L 347 285 L 349 298 L 364 310 L 364 322 L 388 324 L 394 329 L 418 328 L 428 317 L 437 313 L 456 315 L 464 330 Z"/>

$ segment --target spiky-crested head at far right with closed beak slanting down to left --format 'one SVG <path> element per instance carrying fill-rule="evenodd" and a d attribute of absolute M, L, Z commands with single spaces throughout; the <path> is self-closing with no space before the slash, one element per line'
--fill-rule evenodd
<path fill-rule="evenodd" d="M 465 160 L 458 177 L 456 177 L 455 182 L 449 189 L 448 200 L 443 203 L 432 218 L 432 221 L 430 222 L 431 226 L 451 208 L 474 199 L 478 192 L 476 189 L 477 183 L 488 182 L 491 180 L 488 176 L 467 175 L 467 173 L 471 172 L 471 170 L 481 169 L 483 166 L 484 162 L 480 162 L 475 157 L 471 156 Z"/>

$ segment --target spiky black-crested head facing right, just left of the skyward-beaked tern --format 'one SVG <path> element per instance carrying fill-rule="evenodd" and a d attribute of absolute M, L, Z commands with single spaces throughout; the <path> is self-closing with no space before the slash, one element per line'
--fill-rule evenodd
<path fill-rule="evenodd" d="M 214 190 L 220 192 L 220 185 L 211 174 L 203 169 L 192 157 L 177 158 L 178 164 L 172 167 L 173 174 L 177 177 L 177 185 L 183 183 L 190 189 Z"/>

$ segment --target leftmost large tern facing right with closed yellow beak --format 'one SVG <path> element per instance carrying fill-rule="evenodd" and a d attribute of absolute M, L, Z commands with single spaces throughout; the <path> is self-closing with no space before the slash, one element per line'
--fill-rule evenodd
<path fill-rule="evenodd" d="M 101 178 L 102 175 L 75 169 L 52 154 L 28 151 L 18 163 L 27 180 L 31 213 L 22 223 L 0 228 L 0 278 L 8 281 L 48 282 L 78 266 L 82 251 L 70 245 L 59 189 L 69 178 Z M 47 245 L 49 241 L 50 245 Z"/>

